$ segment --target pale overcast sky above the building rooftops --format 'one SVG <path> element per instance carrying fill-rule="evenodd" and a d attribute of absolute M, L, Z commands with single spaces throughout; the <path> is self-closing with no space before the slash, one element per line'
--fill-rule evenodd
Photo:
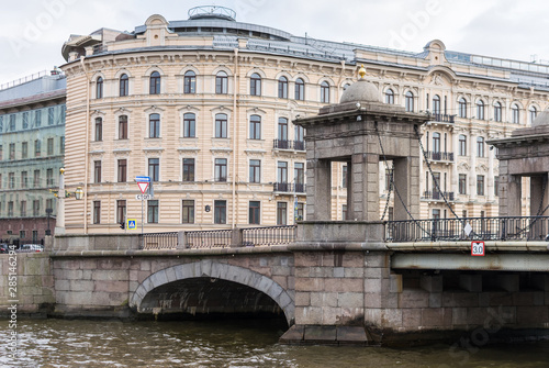
<path fill-rule="evenodd" d="M 541 0 L 25 0 L 0 12 L 0 85 L 63 65 L 70 34 L 133 31 L 154 13 L 186 20 L 202 4 L 321 40 L 421 52 L 438 38 L 451 51 L 549 60 L 549 1 Z"/>

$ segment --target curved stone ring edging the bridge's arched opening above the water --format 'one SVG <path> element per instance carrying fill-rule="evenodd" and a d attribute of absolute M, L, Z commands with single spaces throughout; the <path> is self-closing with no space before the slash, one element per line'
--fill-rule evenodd
<path fill-rule="evenodd" d="M 292 292 L 284 290 L 279 283 L 259 272 L 212 260 L 177 265 L 154 272 L 143 280 L 130 298 L 130 308 L 144 313 L 142 303 L 150 291 L 171 282 L 194 278 L 232 281 L 260 291 L 280 306 L 289 325 L 294 323 L 295 303 Z"/>

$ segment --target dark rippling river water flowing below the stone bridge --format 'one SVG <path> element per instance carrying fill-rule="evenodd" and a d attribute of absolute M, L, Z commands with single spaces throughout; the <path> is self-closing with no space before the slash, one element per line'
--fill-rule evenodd
<path fill-rule="evenodd" d="M 0 321 L 0 367 L 549 367 L 549 342 L 456 350 L 284 346 L 269 321 L 18 321 L 10 359 Z"/>

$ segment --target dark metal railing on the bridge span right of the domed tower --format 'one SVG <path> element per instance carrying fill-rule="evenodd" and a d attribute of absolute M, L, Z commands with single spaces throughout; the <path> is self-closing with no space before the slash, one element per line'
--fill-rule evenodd
<path fill-rule="evenodd" d="M 464 227 L 471 231 L 467 235 Z M 389 221 L 385 241 L 545 241 L 549 234 L 549 216 L 462 218 Z"/>

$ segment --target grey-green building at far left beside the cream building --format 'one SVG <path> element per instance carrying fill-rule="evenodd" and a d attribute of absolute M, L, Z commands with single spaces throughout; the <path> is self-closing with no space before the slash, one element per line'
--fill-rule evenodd
<path fill-rule="evenodd" d="M 65 76 L 54 70 L 0 90 L 0 238 L 54 233 L 65 155 Z"/>

